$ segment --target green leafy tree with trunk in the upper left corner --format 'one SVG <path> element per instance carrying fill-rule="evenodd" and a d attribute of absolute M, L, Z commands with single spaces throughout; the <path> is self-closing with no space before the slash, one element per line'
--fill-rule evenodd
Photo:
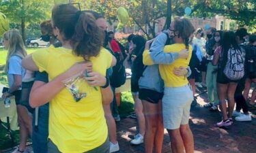
<path fill-rule="evenodd" d="M 25 41 L 25 28 L 29 24 L 40 24 L 50 18 L 52 0 L 5 0 L 0 3 L 0 10 L 11 22 L 18 24 Z"/>

